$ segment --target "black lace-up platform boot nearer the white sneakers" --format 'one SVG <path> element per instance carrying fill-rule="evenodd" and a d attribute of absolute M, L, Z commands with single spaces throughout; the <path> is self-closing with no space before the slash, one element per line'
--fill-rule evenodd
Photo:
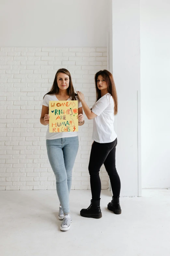
<path fill-rule="evenodd" d="M 81 209 L 80 215 L 87 218 L 99 219 L 102 217 L 100 210 L 100 199 L 91 200 L 91 204 L 87 209 Z"/>

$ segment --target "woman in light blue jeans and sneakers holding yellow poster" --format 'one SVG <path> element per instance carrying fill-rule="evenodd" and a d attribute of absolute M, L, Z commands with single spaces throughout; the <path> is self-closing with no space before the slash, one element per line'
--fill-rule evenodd
<path fill-rule="evenodd" d="M 78 152 L 78 134 L 76 131 L 72 131 L 74 130 L 72 121 L 67 121 L 67 128 L 64 128 L 63 132 L 58 132 L 61 124 L 67 124 L 65 120 L 66 115 L 73 115 L 71 102 L 69 104 L 70 100 L 73 103 L 78 101 L 78 110 L 74 109 L 74 114 L 77 114 L 78 126 L 81 126 L 84 124 L 82 105 L 77 94 L 74 92 L 69 71 L 62 68 L 57 71 L 50 92 L 45 94 L 43 98 L 40 117 L 40 123 L 43 125 L 49 125 L 50 114 L 52 115 L 52 113 L 57 113 L 56 119 L 62 119 L 61 121 L 57 119 L 56 123 L 52 124 L 58 128 L 52 129 L 53 131 L 49 132 L 48 127 L 46 134 L 48 158 L 56 177 L 57 194 L 60 200 L 59 219 L 63 220 L 60 227 L 61 230 L 69 230 L 70 223 L 72 222 L 69 208 L 69 192 L 71 189 L 72 169 Z M 49 101 L 54 102 L 54 104 L 51 103 L 49 106 Z M 60 112 L 57 106 L 61 106 L 61 104 L 59 102 L 56 103 L 56 101 L 65 101 L 62 102 L 62 106 L 69 106 L 68 111 L 60 110 Z M 54 107 L 51 111 L 52 113 L 49 112 L 49 107 Z"/>

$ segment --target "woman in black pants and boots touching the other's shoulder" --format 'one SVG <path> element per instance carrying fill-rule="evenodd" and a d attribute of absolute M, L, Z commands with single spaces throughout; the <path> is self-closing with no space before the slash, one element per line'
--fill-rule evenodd
<path fill-rule="evenodd" d="M 87 209 L 82 209 L 80 215 L 88 218 L 101 218 L 100 193 L 101 181 L 99 171 L 102 164 L 110 178 L 113 197 L 107 208 L 116 214 L 121 213 L 120 178 L 115 166 L 115 153 L 117 145 L 117 135 L 114 131 L 114 117 L 118 112 L 118 100 L 116 87 L 112 74 L 107 70 L 101 70 L 95 75 L 96 102 L 90 109 L 81 92 L 78 98 L 81 101 L 83 110 L 88 119 L 93 119 L 93 134 L 89 173 L 92 192 L 91 204 Z"/>

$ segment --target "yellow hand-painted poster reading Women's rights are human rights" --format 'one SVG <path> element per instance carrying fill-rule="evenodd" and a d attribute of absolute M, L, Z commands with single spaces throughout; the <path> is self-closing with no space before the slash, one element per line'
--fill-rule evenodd
<path fill-rule="evenodd" d="M 49 132 L 78 131 L 78 101 L 49 101 Z"/>

